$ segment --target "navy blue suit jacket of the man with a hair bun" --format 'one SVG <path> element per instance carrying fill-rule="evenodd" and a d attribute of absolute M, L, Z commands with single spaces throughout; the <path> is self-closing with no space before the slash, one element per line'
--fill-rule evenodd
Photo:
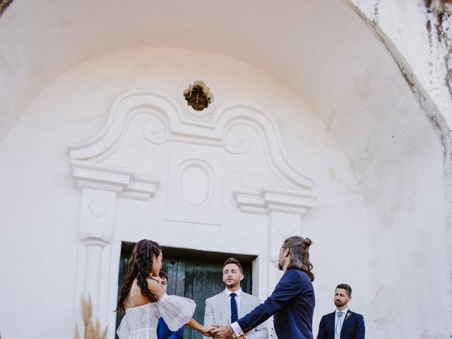
<path fill-rule="evenodd" d="M 281 339 L 313 339 L 314 287 L 307 273 L 287 270 L 265 302 L 237 321 L 245 333 L 273 316 Z"/>

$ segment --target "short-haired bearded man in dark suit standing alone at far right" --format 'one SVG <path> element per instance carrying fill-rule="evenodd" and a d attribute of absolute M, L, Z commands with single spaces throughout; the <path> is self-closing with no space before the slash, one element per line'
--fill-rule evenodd
<path fill-rule="evenodd" d="M 322 316 L 317 339 L 364 339 L 364 318 L 350 311 L 352 287 L 340 284 L 334 292 L 335 311 Z"/>

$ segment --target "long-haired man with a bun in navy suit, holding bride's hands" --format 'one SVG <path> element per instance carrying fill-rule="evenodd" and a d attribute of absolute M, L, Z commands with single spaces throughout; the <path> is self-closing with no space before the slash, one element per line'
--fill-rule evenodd
<path fill-rule="evenodd" d="M 285 239 L 278 256 L 278 268 L 285 273 L 265 302 L 230 326 L 216 327 L 213 337 L 237 338 L 273 316 L 276 335 L 280 339 L 313 339 L 312 315 L 315 296 L 312 287 L 312 265 L 309 262 L 311 239 Z"/>

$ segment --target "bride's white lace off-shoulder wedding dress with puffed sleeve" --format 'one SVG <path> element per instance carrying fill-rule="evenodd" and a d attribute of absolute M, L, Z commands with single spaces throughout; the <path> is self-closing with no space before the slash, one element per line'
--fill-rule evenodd
<path fill-rule="evenodd" d="M 171 331 L 177 331 L 190 321 L 195 309 L 193 300 L 166 294 L 158 302 L 131 307 L 117 330 L 119 339 L 157 339 L 160 316 Z"/>

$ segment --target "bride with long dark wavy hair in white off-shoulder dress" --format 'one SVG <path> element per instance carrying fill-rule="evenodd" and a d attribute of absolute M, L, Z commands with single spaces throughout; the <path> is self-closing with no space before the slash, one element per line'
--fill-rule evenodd
<path fill-rule="evenodd" d="M 157 321 L 162 316 L 171 331 L 186 325 L 210 336 L 210 329 L 191 318 L 193 300 L 167 295 L 157 277 L 162 268 L 162 249 L 143 239 L 133 249 L 129 270 L 121 287 L 117 311 L 126 315 L 117 330 L 119 339 L 157 339 Z"/>

